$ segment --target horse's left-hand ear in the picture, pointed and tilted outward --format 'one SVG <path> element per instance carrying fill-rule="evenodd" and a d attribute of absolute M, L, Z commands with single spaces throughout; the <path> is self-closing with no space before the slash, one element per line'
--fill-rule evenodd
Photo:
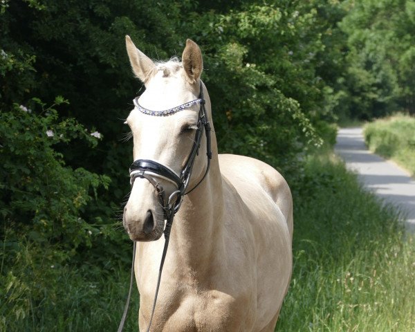
<path fill-rule="evenodd" d="M 141 82 L 146 83 L 147 80 L 149 80 L 149 77 L 151 77 L 151 73 L 154 72 L 156 64 L 154 64 L 147 55 L 136 48 L 136 45 L 134 45 L 129 35 L 125 36 L 125 46 L 127 47 L 127 53 L 131 68 L 133 68 L 133 73 L 141 80 Z"/>

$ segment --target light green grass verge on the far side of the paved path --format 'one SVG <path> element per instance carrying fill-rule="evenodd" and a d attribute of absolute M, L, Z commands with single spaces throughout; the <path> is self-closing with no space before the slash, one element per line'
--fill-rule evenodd
<path fill-rule="evenodd" d="M 391 158 L 415 175 L 415 118 L 392 116 L 365 126 L 366 143 L 376 154 Z"/>

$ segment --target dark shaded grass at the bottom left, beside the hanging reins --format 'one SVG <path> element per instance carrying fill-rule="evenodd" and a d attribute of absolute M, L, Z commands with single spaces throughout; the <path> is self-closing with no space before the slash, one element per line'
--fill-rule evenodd
<path fill-rule="evenodd" d="M 30 245 L 7 275 L 1 295 L 0 331 L 117 331 L 124 310 L 129 270 L 99 270 L 93 264 L 42 266 Z M 6 295 L 5 293 L 5 295 Z M 133 289 L 124 331 L 137 331 L 138 292 Z"/>

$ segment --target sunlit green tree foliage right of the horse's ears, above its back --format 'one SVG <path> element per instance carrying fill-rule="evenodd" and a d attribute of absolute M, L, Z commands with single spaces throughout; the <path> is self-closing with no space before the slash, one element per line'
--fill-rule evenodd
<path fill-rule="evenodd" d="M 293 172 L 299 151 L 322 143 L 314 124 L 324 84 L 315 84 L 313 67 L 322 46 L 307 33 L 315 12 L 288 3 L 241 8 L 193 13 L 183 24 L 200 31 L 219 149 Z"/>

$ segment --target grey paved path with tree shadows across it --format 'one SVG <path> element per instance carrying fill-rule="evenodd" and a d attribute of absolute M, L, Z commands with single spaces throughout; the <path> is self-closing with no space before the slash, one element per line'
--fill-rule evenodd
<path fill-rule="evenodd" d="M 361 128 L 340 129 L 335 152 L 360 181 L 385 201 L 398 205 L 407 216 L 405 228 L 415 232 L 415 181 L 394 163 L 368 151 Z"/>

